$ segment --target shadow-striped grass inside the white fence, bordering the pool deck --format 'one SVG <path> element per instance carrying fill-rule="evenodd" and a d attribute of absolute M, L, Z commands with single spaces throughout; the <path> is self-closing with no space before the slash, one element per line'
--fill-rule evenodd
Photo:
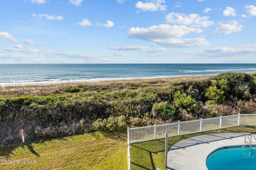
<path fill-rule="evenodd" d="M 255 126 L 247 126 L 245 128 L 242 127 L 233 127 L 222 129 L 222 131 L 209 131 L 209 132 L 202 132 L 196 134 L 188 134 L 182 136 L 176 136 L 168 139 L 168 149 L 170 150 L 175 143 L 188 139 L 191 137 L 195 137 L 198 135 L 204 134 L 211 134 L 214 136 L 214 133 L 238 133 L 244 135 L 243 132 L 247 133 L 256 133 Z M 224 138 L 223 138 L 224 139 Z M 195 141 L 195 143 L 199 143 L 201 141 Z M 140 142 L 140 143 L 133 143 L 131 144 L 130 154 L 131 154 L 131 169 L 132 170 L 139 170 L 139 169 L 157 169 L 157 167 L 164 168 L 164 143 L 165 140 L 155 140 L 155 141 L 148 141 L 148 142 Z M 172 169 L 172 168 L 169 168 Z"/>

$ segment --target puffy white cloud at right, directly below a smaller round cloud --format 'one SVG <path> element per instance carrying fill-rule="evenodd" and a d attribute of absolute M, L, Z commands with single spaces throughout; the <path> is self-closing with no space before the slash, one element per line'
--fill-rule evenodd
<path fill-rule="evenodd" d="M 220 34 L 230 34 L 233 32 L 239 32 L 243 30 L 243 25 L 239 25 L 236 20 L 229 21 L 227 23 L 220 22 L 220 27 L 215 29 L 213 33 L 220 33 Z"/>

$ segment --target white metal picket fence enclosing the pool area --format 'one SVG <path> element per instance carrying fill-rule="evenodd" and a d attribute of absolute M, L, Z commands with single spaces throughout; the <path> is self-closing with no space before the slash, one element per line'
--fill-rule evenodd
<path fill-rule="evenodd" d="M 127 144 L 128 144 L 128 169 L 130 170 L 131 156 L 130 144 L 145 142 L 156 139 L 164 139 L 165 132 L 168 132 L 168 137 L 177 135 L 206 132 L 229 128 L 233 126 L 250 126 L 256 125 L 256 114 L 237 114 L 231 116 L 220 116 L 213 118 L 204 118 L 194 121 L 175 122 L 169 124 L 160 124 L 152 126 L 143 126 L 139 128 L 127 129 Z"/>

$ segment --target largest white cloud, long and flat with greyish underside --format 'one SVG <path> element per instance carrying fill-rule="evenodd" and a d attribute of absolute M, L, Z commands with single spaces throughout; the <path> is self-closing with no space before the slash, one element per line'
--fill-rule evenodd
<path fill-rule="evenodd" d="M 187 27 L 186 25 L 161 24 L 149 28 L 131 28 L 128 32 L 130 37 L 153 41 L 158 45 L 169 47 L 192 47 L 209 45 L 204 38 L 180 39 L 188 33 L 200 33 L 201 29 Z"/>

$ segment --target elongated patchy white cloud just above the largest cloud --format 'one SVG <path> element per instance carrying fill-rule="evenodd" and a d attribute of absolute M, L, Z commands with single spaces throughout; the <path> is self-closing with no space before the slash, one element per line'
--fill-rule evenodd
<path fill-rule="evenodd" d="M 209 16 L 199 16 L 198 14 L 169 13 L 165 16 L 166 22 L 179 25 L 194 25 L 196 27 L 209 27 L 213 25 L 213 21 L 209 20 Z"/>

